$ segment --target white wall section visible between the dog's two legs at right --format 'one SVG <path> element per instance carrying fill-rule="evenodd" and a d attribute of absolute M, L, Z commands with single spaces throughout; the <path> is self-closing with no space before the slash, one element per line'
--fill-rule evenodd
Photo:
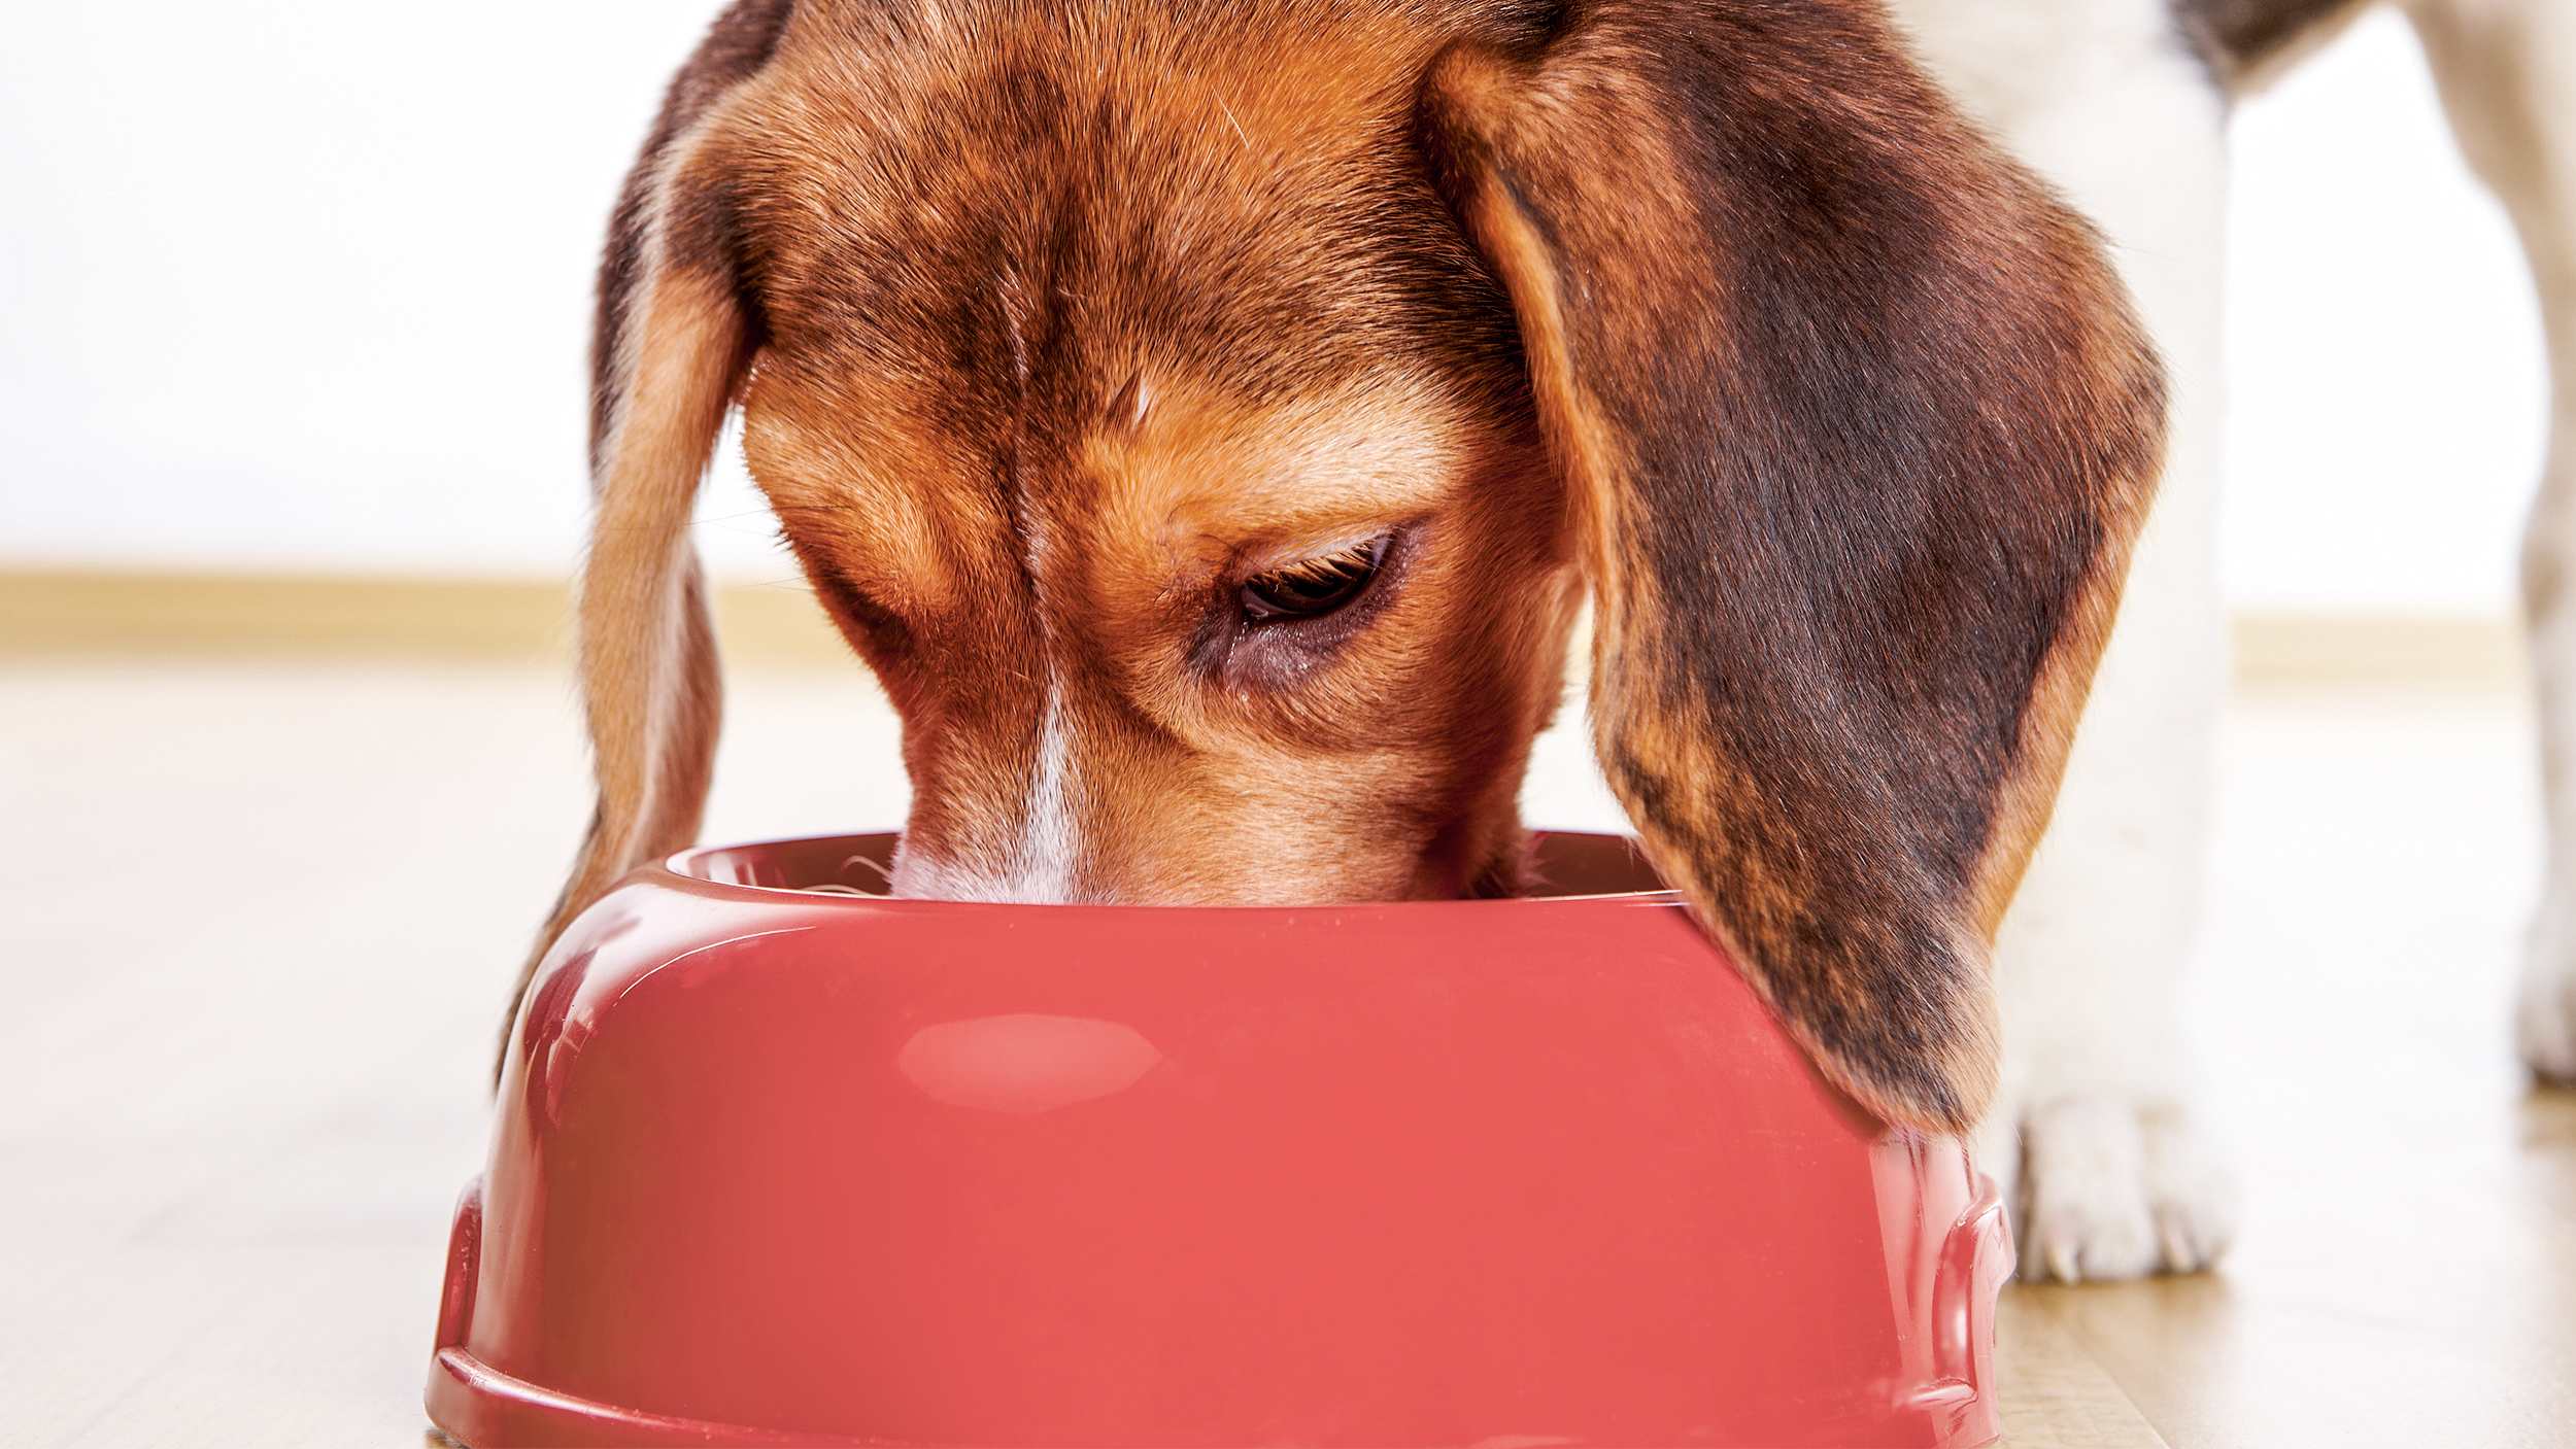
<path fill-rule="evenodd" d="M 2365 15 L 2236 113 L 2228 592 L 2272 610 L 2504 610 L 2548 396 L 2522 250 Z"/>

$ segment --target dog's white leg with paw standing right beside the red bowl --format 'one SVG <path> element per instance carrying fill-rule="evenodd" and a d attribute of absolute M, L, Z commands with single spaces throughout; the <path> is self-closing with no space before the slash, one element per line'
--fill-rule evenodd
<path fill-rule="evenodd" d="M 2226 674 L 2218 268 L 2226 100 L 2164 0 L 1901 0 L 1958 100 L 2110 237 L 2172 381 L 2172 443 L 2048 836 L 1996 942 L 2022 1271 L 2208 1264 L 2233 1189 L 2192 1107 L 2192 952 Z"/>

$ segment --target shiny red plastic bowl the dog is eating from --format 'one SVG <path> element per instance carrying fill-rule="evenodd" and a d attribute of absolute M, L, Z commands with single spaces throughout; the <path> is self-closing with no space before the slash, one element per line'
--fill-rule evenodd
<path fill-rule="evenodd" d="M 1530 901 L 793 891 L 891 842 L 685 854 L 572 927 L 456 1212 L 443 1431 L 1996 1436 L 1991 1184 L 1829 1089 L 1625 842 L 1546 839 Z"/>

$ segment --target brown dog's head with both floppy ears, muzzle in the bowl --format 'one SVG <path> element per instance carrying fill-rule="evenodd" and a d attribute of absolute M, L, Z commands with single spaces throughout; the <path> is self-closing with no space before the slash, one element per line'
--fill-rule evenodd
<path fill-rule="evenodd" d="M 1363 10 L 719 21 L 603 273 L 556 929 L 696 834 L 739 404 L 904 715 L 899 893 L 1510 893 L 1589 592 L 1656 865 L 1965 1125 L 2156 468 L 2117 283 L 1862 0 Z"/>

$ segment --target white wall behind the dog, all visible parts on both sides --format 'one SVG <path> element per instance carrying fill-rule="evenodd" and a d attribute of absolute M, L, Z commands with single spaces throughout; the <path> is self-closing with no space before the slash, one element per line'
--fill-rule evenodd
<path fill-rule="evenodd" d="M 0 8 L 0 564 L 554 574 L 590 270 L 716 0 Z M 2540 342 L 2414 41 L 2239 116 L 2228 584 L 2506 600 Z M 701 533 L 775 577 L 739 474 Z"/>

